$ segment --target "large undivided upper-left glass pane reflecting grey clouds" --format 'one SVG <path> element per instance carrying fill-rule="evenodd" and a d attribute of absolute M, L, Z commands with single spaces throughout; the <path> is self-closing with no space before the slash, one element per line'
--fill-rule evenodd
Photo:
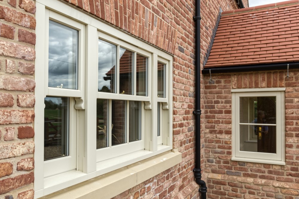
<path fill-rule="evenodd" d="M 78 30 L 49 21 L 48 87 L 78 89 Z"/>

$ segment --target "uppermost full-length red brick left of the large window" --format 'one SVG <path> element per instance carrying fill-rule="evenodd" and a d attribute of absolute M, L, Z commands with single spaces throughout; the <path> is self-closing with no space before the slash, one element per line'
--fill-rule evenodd
<path fill-rule="evenodd" d="M 0 6 L 0 19 L 35 30 L 36 21 L 33 16 L 26 15 L 7 7 Z"/>

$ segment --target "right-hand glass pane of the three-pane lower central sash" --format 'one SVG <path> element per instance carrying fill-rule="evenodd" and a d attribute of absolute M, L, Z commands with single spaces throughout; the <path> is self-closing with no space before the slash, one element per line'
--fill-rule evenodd
<path fill-rule="evenodd" d="M 141 140 L 141 102 L 129 102 L 129 142 Z"/>

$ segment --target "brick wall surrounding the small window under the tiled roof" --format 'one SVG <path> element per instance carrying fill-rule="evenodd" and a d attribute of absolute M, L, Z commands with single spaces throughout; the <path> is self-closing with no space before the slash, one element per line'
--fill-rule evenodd
<path fill-rule="evenodd" d="M 299 195 L 299 71 L 205 76 L 205 169 L 209 198 Z M 231 89 L 286 87 L 286 166 L 231 161 Z"/>

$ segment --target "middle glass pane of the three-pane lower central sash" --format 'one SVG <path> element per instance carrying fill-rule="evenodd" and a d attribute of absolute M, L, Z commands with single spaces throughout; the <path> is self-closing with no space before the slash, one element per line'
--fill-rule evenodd
<path fill-rule="evenodd" d="M 126 101 L 112 100 L 112 146 L 126 142 Z"/>

